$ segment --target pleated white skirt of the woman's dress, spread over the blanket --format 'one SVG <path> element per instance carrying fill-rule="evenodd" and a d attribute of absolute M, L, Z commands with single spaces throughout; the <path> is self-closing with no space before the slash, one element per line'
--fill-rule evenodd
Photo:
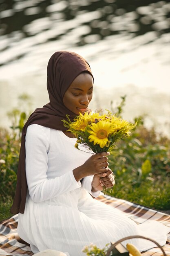
<path fill-rule="evenodd" d="M 132 235 L 152 237 L 163 245 L 170 231 L 156 221 L 137 225 L 121 211 L 94 200 L 82 187 L 41 203 L 28 198 L 26 211 L 19 214 L 19 219 L 19 223 L 25 223 L 25 231 L 37 250 L 54 249 L 70 256 L 85 255 L 82 248 L 90 243 L 102 248 Z M 123 242 L 125 246 L 127 243 L 133 243 L 140 251 L 155 246 L 143 239 Z"/>

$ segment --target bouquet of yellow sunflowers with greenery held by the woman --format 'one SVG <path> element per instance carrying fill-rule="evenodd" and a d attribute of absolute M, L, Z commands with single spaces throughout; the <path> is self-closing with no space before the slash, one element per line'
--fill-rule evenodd
<path fill-rule="evenodd" d="M 75 148 L 79 149 L 79 144 L 84 145 L 87 150 L 94 153 L 111 152 L 114 144 L 123 137 L 130 136 L 130 130 L 135 128 L 136 124 L 130 124 L 128 121 L 107 113 L 100 115 L 98 112 L 79 113 L 71 122 L 69 116 L 67 120 L 62 120 L 67 131 L 73 133 L 77 138 Z M 106 187 L 104 186 L 104 193 Z"/>

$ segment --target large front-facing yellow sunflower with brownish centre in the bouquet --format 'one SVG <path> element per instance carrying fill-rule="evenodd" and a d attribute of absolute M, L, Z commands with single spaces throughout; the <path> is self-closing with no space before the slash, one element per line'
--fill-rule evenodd
<path fill-rule="evenodd" d="M 96 124 L 91 124 L 91 130 L 88 133 L 91 135 L 88 137 L 89 141 L 95 144 L 99 144 L 103 148 L 108 142 L 108 135 L 113 132 L 112 124 L 108 121 L 101 120 Z"/>

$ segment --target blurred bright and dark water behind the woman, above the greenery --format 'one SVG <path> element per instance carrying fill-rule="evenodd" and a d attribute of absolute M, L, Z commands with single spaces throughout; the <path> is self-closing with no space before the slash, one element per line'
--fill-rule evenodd
<path fill-rule="evenodd" d="M 126 95 L 125 119 L 145 115 L 148 128 L 170 136 L 168 1 L 0 0 L 0 126 L 21 94 L 32 110 L 49 101 L 46 67 L 59 50 L 91 65 L 93 110 L 114 110 Z"/>

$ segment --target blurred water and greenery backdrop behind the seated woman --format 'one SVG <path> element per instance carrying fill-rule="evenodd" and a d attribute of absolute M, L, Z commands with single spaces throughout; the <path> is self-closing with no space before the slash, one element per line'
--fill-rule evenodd
<path fill-rule="evenodd" d="M 46 68 L 60 50 L 91 65 L 91 109 L 141 116 L 110 155 L 110 195 L 170 213 L 170 2 L 0 0 L 0 219 L 11 216 L 22 127 L 49 102 Z"/>

